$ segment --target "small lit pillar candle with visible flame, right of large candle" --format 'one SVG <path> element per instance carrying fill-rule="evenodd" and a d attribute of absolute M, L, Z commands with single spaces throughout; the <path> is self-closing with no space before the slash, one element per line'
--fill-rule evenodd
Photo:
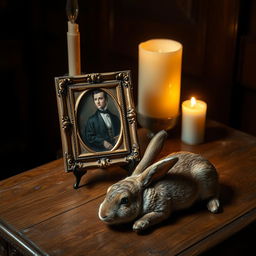
<path fill-rule="evenodd" d="M 181 140 L 189 145 L 204 141 L 207 104 L 204 101 L 186 100 L 182 103 Z"/>

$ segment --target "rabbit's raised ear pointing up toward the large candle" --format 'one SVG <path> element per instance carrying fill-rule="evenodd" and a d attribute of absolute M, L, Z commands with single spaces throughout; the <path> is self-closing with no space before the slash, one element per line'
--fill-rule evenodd
<path fill-rule="evenodd" d="M 150 166 L 153 163 L 156 156 L 162 150 L 166 137 L 167 132 L 162 130 L 151 139 L 144 153 L 143 158 L 133 171 L 132 175 L 138 175 L 142 173 L 148 166 Z"/>

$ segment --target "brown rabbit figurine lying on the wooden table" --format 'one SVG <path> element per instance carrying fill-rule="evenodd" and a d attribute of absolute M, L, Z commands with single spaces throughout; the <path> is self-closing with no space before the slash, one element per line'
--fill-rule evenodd
<path fill-rule="evenodd" d="M 206 200 L 208 210 L 218 212 L 218 174 L 207 159 L 181 151 L 151 164 L 166 135 L 156 134 L 132 175 L 108 188 L 100 220 L 110 225 L 136 220 L 133 230 L 142 231 L 197 200 Z"/>

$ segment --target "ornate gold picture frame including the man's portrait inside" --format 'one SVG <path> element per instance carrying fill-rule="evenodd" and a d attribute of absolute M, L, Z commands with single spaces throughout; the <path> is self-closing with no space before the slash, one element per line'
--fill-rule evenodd
<path fill-rule="evenodd" d="M 74 188 L 90 168 L 139 161 L 130 71 L 55 78 L 65 170 Z"/>

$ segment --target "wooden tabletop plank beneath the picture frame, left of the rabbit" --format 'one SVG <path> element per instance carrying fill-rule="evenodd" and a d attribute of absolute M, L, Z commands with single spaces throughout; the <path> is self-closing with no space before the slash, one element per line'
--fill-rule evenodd
<path fill-rule="evenodd" d="M 125 175 L 119 167 L 91 170 L 84 178 L 86 186 L 74 190 L 74 176 L 65 173 L 61 159 L 1 182 L 0 216 L 18 229 L 32 226 L 103 195 Z"/>

